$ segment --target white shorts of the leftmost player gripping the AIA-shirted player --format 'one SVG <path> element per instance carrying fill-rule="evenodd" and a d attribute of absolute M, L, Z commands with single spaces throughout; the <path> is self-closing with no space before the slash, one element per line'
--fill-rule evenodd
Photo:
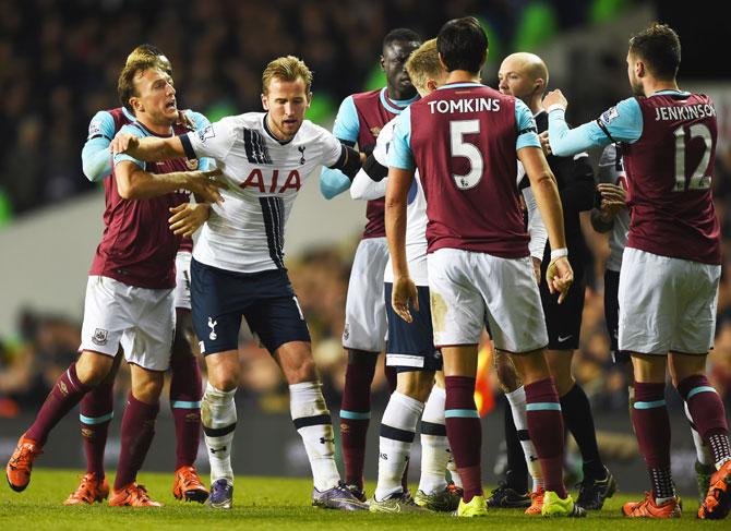
<path fill-rule="evenodd" d="M 86 283 L 79 350 L 116 355 L 151 371 L 167 371 L 175 334 L 172 290 L 128 286 L 93 275 Z"/>

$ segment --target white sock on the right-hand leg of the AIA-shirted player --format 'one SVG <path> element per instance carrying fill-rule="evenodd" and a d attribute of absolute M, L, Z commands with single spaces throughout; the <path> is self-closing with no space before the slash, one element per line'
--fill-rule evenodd
<path fill-rule="evenodd" d="M 289 386 L 289 408 L 292 422 L 304 443 L 312 468 L 312 480 L 323 492 L 340 482 L 335 463 L 335 434 L 320 382 L 303 382 Z"/>

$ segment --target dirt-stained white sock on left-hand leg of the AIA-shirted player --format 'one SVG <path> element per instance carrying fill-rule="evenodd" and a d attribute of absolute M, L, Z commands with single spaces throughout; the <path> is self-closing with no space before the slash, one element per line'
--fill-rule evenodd
<path fill-rule="evenodd" d="M 201 423 L 211 463 L 211 483 L 227 479 L 233 483 L 231 446 L 236 430 L 236 389 L 216 389 L 209 383 L 201 401 Z"/>

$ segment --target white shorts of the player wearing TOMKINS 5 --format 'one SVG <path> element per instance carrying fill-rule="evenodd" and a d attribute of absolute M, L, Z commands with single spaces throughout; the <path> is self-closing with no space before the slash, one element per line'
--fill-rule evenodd
<path fill-rule="evenodd" d="M 434 346 L 477 345 L 486 322 L 496 349 L 519 353 L 548 345 L 529 256 L 440 249 L 428 260 Z"/>

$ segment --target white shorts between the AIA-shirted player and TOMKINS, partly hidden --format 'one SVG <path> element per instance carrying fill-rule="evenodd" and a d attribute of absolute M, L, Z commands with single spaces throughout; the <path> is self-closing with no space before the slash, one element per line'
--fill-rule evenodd
<path fill-rule="evenodd" d="M 358 244 L 345 303 L 343 347 L 381 352 L 386 348 L 386 306 L 383 271 L 388 261 L 385 238 L 366 238 Z"/>

